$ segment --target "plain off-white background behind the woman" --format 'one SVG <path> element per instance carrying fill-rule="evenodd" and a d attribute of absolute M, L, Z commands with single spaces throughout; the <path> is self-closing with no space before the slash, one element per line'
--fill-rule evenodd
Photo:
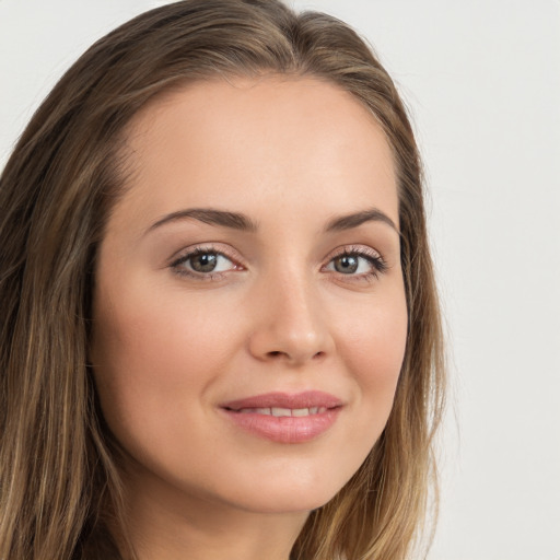
<path fill-rule="evenodd" d="M 96 38 L 166 2 L 0 0 L 0 168 Z M 560 560 L 560 2 L 296 0 L 349 22 L 410 108 L 452 395 L 430 560 Z"/>

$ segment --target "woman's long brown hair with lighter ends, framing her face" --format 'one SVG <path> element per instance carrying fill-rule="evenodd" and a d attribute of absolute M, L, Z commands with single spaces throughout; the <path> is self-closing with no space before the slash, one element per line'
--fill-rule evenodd
<path fill-rule="evenodd" d="M 342 22 L 278 0 L 185 0 L 131 20 L 65 74 L 0 178 L 0 558 L 133 557 L 88 340 L 96 247 L 127 176 L 126 127 L 170 88 L 313 75 L 375 116 L 398 174 L 409 329 L 388 423 L 311 513 L 293 559 L 402 560 L 422 526 L 443 405 L 443 351 L 418 150 L 387 72 Z M 110 527 L 110 533 L 109 533 Z M 122 535 L 120 552 L 112 535 Z"/>

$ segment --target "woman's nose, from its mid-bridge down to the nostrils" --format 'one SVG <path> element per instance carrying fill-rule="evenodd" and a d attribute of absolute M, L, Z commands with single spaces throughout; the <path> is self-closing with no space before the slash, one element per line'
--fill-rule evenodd
<path fill-rule="evenodd" d="M 300 366 L 332 352 L 335 342 L 324 306 L 304 281 L 269 283 L 253 305 L 249 351 L 256 359 Z"/>

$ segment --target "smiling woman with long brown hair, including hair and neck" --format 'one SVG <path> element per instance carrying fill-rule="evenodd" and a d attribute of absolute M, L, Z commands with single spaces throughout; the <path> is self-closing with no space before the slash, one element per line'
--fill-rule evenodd
<path fill-rule="evenodd" d="M 343 23 L 187 0 L 0 184 L 0 558 L 407 557 L 443 368 L 418 152 Z"/>

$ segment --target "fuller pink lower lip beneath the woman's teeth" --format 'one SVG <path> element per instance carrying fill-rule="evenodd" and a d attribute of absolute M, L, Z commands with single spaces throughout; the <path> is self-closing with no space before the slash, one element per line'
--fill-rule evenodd
<path fill-rule="evenodd" d="M 254 435 L 277 443 L 305 443 L 325 433 L 336 422 L 341 407 L 303 417 L 223 410 L 232 422 Z"/>

